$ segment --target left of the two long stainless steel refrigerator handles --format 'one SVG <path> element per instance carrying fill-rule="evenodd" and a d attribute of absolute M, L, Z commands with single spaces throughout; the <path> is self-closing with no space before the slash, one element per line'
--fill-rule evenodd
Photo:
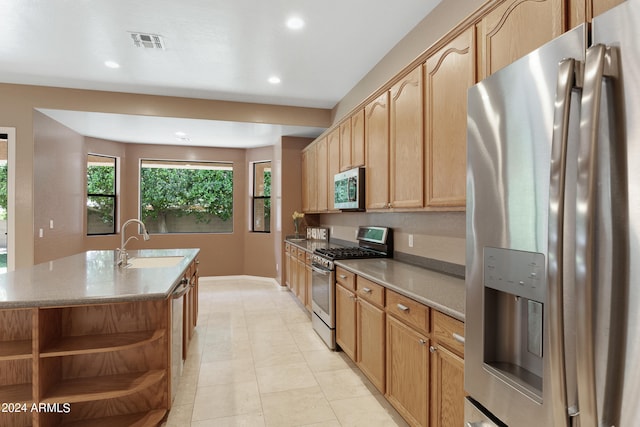
<path fill-rule="evenodd" d="M 579 64 L 565 59 L 558 67 L 558 84 L 554 102 L 553 136 L 551 144 L 551 173 L 549 177 L 549 250 L 547 269 L 547 304 L 549 306 L 549 364 L 554 425 L 568 426 L 567 384 L 565 375 L 564 318 L 563 318 L 563 218 L 565 200 L 565 171 L 569 135 L 571 90 Z"/>

